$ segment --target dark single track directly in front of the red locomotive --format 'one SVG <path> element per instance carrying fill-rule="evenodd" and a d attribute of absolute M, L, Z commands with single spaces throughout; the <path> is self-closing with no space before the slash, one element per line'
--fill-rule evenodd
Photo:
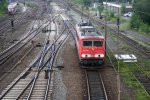
<path fill-rule="evenodd" d="M 86 100 L 108 100 L 99 70 L 85 70 L 84 74 L 87 83 Z"/>

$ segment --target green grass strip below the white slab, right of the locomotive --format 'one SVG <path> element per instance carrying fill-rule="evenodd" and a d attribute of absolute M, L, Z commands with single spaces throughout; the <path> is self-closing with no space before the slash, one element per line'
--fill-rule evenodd
<path fill-rule="evenodd" d="M 123 78 L 123 81 L 129 88 L 135 90 L 136 100 L 148 100 L 150 99 L 148 94 L 145 92 L 143 86 L 133 76 L 132 71 L 136 71 L 136 66 L 133 63 L 126 64 L 119 61 L 119 71 Z"/>

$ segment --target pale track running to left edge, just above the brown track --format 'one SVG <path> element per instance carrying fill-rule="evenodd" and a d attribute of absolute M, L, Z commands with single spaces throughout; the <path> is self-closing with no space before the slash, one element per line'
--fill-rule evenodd
<path fill-rule="evenodd" d="M 34 21 L 34 23 L 35 23 L 35 21 Z M 23 48 L 27 43 L 29 43 L 30 41 L 32 41 L 32 39 L 36 35 L 38 35 L 40 32 L 42 32 L 42 29 L 45 28 L 45 27 L 47 27 L 48 24 L 49 24 L 49 21 L 46 21 L 44 23 L 45 26 L 40 25 L 36 29 L 34 28 L 34 24 L 33 24 L 32 28 L 29 30 L 29 32 L 27 33 L 26 36 L 24 36 L 22 39 L 20 39 L 19 41 L 17 41 L 15 44 L 13 44 L 12 46 L 10 46 L 8 49 L 6 49 L 3 52 L 1 52 L 1 54 L 0 54 L 0 65 L 3 64 L 5 61 L 7 61 L 8 58 L 10 58 L 11 56 L 13 56 L 21 48 Z"/>

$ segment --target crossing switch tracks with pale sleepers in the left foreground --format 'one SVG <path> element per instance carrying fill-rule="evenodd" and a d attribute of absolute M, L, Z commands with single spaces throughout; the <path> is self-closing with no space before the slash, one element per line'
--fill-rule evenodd
<path fill-rule="evenodd" d="M 53 86 L 52 67 L 58 50 L 70 36 L 71 31 L 66 29 L 67 27 L 64 27 L 62 33 L 51 43 L 48 42 L 50 35 L 45 38 L 41 55 L 2 92 L 1 100 L 47 100 L 51 98 Z M 64 34 L 65 30 L 67 34 Z"/>

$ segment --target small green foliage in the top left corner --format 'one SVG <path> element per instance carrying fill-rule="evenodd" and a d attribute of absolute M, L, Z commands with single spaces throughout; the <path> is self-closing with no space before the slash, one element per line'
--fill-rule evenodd
<path fill-rule="evenodd" d="M 7 12 L 8 2 L 7 0 L 0 1 L 0 16 L 3 16 Z"/>

